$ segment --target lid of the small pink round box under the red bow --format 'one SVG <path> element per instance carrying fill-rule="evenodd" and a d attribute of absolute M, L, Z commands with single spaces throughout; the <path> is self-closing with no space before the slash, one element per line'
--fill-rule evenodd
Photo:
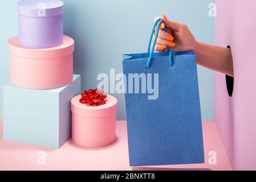
<path fill-rule="evenodd" d="M 79 102 L 81 95 L 72 98 L 71 111 L 82 117 L 104 117 L 116 113 L 117 100 L 115 97 L 107 94 L 107 104 L 100 106 L 88 106 Z"/>

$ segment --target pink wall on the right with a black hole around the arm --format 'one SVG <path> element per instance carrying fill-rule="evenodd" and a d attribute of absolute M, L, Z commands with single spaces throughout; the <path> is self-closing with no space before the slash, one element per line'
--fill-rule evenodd
<path fill-rule="evenodd" d="M 256 170 L 256 1 L 216 0 L 216 45 L 230 46 L 234 91 L 216 73 L 215 118 L 235 170 Z"/>

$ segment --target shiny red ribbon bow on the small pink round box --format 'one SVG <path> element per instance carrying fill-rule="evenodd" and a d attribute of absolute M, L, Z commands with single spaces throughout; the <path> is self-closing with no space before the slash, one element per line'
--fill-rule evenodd
<path fill-rule="evenodd" d="M 82 98 L 80 98 L 80 103 L 88 104 L 90 106 L 100 106 L 106 104 L 105 98 L 107 95 L 103 94 L 103 92 L 99 92 L 96 89 L 84 90 L 84 93 L 81 94 Z"/>

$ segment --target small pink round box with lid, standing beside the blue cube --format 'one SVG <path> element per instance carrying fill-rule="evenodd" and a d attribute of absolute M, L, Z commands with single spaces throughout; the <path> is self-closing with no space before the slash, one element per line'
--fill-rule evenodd
<path fill-rule="evenodd" d="M 107 104 L 81 104 L 81 95 L 72 98 L 72 140 L 83 147 L 104 147 L 116 139 L 117 100 L 107 95 Z"/>

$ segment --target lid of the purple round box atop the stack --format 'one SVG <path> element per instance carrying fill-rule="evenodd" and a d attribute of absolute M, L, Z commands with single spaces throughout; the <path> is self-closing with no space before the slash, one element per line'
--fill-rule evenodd
<path fill-rule="evenodd" d="M 50 17 L 64 13 L 64 3 L 59 0 L 23 0 L 17 5 L 18 14 L 32 17 Z"/>

